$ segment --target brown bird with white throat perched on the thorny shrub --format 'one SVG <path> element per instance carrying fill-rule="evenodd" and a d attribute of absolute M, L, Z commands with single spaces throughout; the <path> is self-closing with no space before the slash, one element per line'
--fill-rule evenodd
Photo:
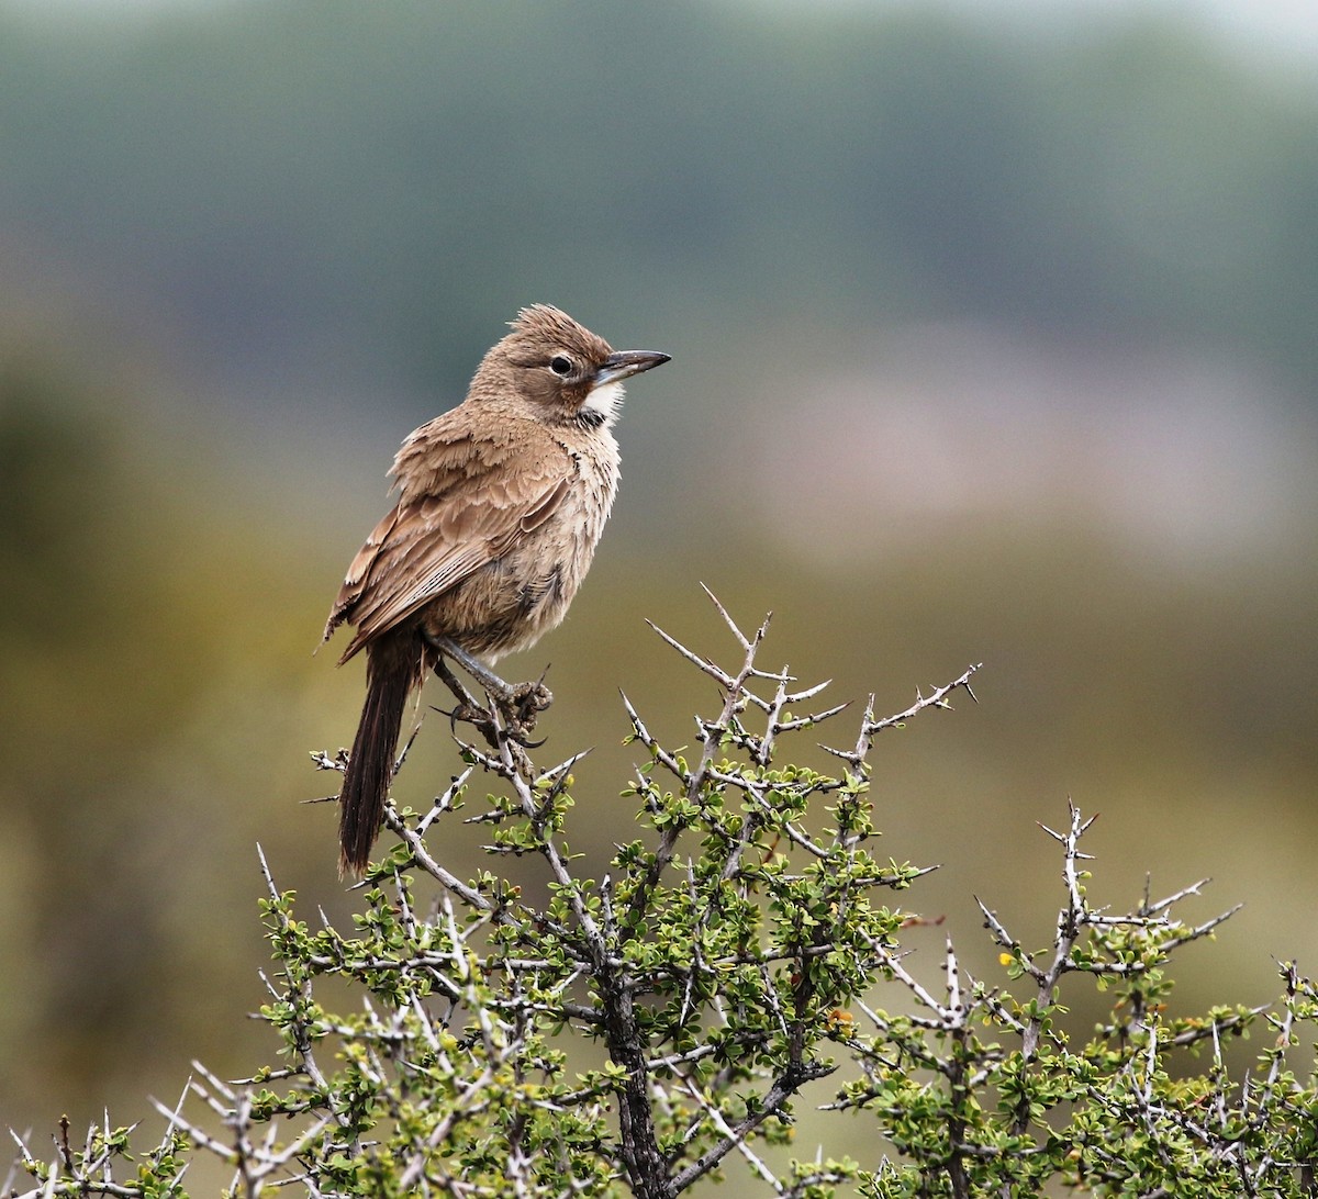
<path fill-rule="evenodd" d="M 618 486 L 622 381 L 668 361 L 616 352 L 548 304 L 523 308 L 511 329 L 467 399 L 403 441 L 389 472 L 398 505 L 352 560 L 326 625 L 326 640 L 356 627 L 340 664 L 366 651 L 339 796 L 340 874 L 370 859 L 407 701 L 440 654 L 505 709 L 525 698 L 478 659 L 523 650 L 563 619 Z"/>

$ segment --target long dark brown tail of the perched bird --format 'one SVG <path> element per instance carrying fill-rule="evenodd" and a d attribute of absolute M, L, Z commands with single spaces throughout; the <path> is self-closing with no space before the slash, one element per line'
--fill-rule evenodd
<path fill-rule="evenodd" d="M 410 630 L 366 646 L 366 702 L 339 793 L 339 875 L 361 875 L 385 818 L 407 697 L 424 679 L 424 643 Z"/>

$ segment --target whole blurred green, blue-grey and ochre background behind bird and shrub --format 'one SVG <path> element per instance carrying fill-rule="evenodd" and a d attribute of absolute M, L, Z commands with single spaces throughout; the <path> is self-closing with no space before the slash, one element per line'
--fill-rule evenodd
<path fill-rule="evenodd" d="M 1049 941 L 1068 796 L 1099 900 L 1246 901 L 1185 1009 L 1315 968 L 1315 65 L 1280 0 L 0 0 L 0 1127 L 269 1059 L 257 842 L 355 908 L 303 801 L 361 663 L 311 651 L 534 300 L 673 356 L 506 661 L 552 663 L 546 762 L 596 746 L 588 862 L 618 688 L 677 743 L 716 701 L 645 618 L 734 657 L 704 581 L 834 700 L 985 663 L 874 756 L 931 980 L 945 932 L 1002 980 L 975 895 Z M 395 793 L 455 760 L 432 718 Z"/>

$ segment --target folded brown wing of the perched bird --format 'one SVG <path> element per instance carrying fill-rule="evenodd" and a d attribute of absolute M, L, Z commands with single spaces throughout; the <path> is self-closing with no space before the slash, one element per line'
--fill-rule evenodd
<path fill-rule="evenodd" d="M 345 621 L 357 627 L 341 661 L 506 555 L 558 510 L 572 459 L 519 451 L 514 443 L 473 437 L 428 448 L 423 485 L 405 485 L 398 506 L 357 551 L 330 613 L 327 639 Z M 517 470 L 510 470 L 514 456 Z"/>

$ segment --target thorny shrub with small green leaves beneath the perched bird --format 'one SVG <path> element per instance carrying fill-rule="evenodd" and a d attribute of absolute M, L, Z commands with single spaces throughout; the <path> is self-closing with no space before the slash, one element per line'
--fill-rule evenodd
<path fill-rule="evenodd" d="M 1202 884 L 1094 906 L 1091 821 L 1072 808 L 1046 830 L 1064 880 L 1052 943 L 1028 950 L 981 904 L 1002 984 L 973 978 L 950 938 L 937 982 L 921 979 L 904 945 L 919 921 L 896 900 L 928 871 L 876 852 L 869 759 L 880 734 L 970 696 L 975 668 L 895 715 L 871 698 L 825 773 L 782 746 L 854 717 L 815 706 L 822 684 L 758 665 L 767 621 L 747 636 L 718 610 L 734 669 L 659 634 L 720 688 L 689 750 L 625 701 L 637 837 L 601 878 L 567 842 L 580 755 L 536 766 L 448 676 L 476 714 L 467 769 L 428 809 L 390 808 L 395 843 L 355 926 L 301 918 L 266 868 L 274 1063 L 239 1082 L 196 1065 L 145 1152 L 108 1120 L 76 1145 L 62 1124 L 50 1153 L 16 1137 L 9 1192 L 26 1174 L 32 1196 L 182 1195 L 204 1153 L 241 1195 L 672 1199 L 734 1174 L 739 1192 L 800 1199 L 1318 1194 L 1318 1090 L 1296 1062 L 1318 993 L 1293 964 L 1272 1007 L 1169 1016 L 1172 955 L 1231 913 L 1178 920 Z M 492 780 L 480 801 L 477 775 Z M 498 868 L 459 878 L 439 860 L 427 834 L 460 808 L 488 826 L 496 866 L 543 860 L 544 903 Z M 326 978 L 355 1011 L 322 1004 Z M 1066 1005 L 1089 986 L 1108 1016 L 1077 1036 Z M 1261 1051 L 1231 1078 L 1223 1046 L 1255 1026 Z M 873 1157 L 792 1158 L 807 1101 L 870 1121 Z"/>

